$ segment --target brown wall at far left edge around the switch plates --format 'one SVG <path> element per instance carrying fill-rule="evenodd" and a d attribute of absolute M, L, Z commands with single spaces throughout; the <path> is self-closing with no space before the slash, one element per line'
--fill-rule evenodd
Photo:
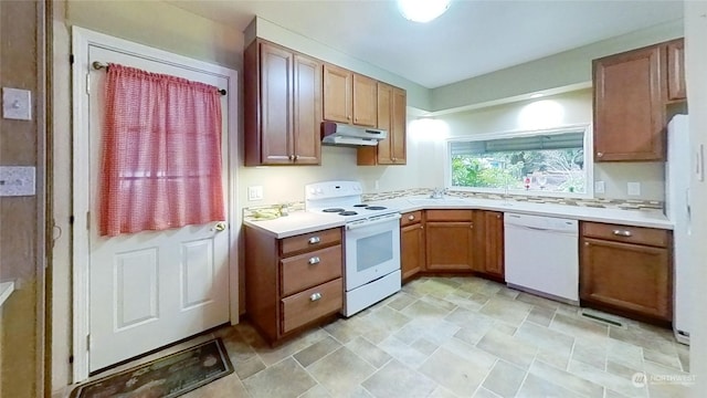
<path fill-rule="evenodd" d="M 0 2 L 0 85 L 32 92 L 32 121 L 0 118 L 0 165 L 35 166 L 36 195 L 0 198 L 0 281 L 15 291 L 0 318 L 0 397 L 43 391 L 44 323 L 44 4 Z"/>

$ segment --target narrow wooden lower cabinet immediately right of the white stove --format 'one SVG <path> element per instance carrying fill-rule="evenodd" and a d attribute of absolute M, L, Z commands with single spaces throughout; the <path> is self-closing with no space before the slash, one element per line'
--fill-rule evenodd
<path fill-rule="evenodd" d="M 400 219 L 400 268 L 403 281 L 424 270 L 424 251 L 422 211 L 403 213 Z"/>

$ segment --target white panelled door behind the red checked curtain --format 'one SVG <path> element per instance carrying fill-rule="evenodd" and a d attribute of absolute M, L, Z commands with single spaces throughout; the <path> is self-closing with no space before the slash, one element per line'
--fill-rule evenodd
<path fill-rule="evenodd" d="M 223 76 L 131 53 L 88 46 L 88 65 L 119 63 L 226 87 Z M 198 334 L 229 322 L 229 230 L 217 223 L 115 238 L 98 235 L 98 187 L 105 70 L 88 71 L 88 300 L 89 370 Z M 223 191 L 229 190 L 229 107 L 222 98 Z M 76 176 L 78 187 L 84 181 Z M 226 210 L 228 211 L 228 210 Z M 224 220 L 226 221 L 226 220 Z"/>

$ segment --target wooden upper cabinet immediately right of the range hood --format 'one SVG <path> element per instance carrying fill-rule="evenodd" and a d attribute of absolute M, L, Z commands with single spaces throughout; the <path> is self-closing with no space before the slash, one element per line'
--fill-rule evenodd
<path fill-rule="evenodd" d="M 359 166 L 404 165 L 407 163 L 408 96 L 404 90 L 378 82 L 378 128 L 388 137 L 378 146 L 359 148 Z"/>

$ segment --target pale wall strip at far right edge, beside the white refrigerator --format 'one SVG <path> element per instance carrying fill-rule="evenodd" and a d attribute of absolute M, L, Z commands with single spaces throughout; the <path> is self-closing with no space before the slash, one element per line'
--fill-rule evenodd
<path fill-rule="evenodd" d="M 685 2 L 685 57 L 687 101 L 690 106 L 690 142 L 697 149 L 707 147 L 707 2 Z M 693 229 L 689 242 L 690 260 L 696 268 L 693 320 L 690 334 L 690 371 L 696 385 L 690 397 L 701 398 L 707 390 L 707 316 L 705 294 L 698 294 L 707 284 L 707 182 L 692 177 L 690 202 L 693 205 Z"/>

